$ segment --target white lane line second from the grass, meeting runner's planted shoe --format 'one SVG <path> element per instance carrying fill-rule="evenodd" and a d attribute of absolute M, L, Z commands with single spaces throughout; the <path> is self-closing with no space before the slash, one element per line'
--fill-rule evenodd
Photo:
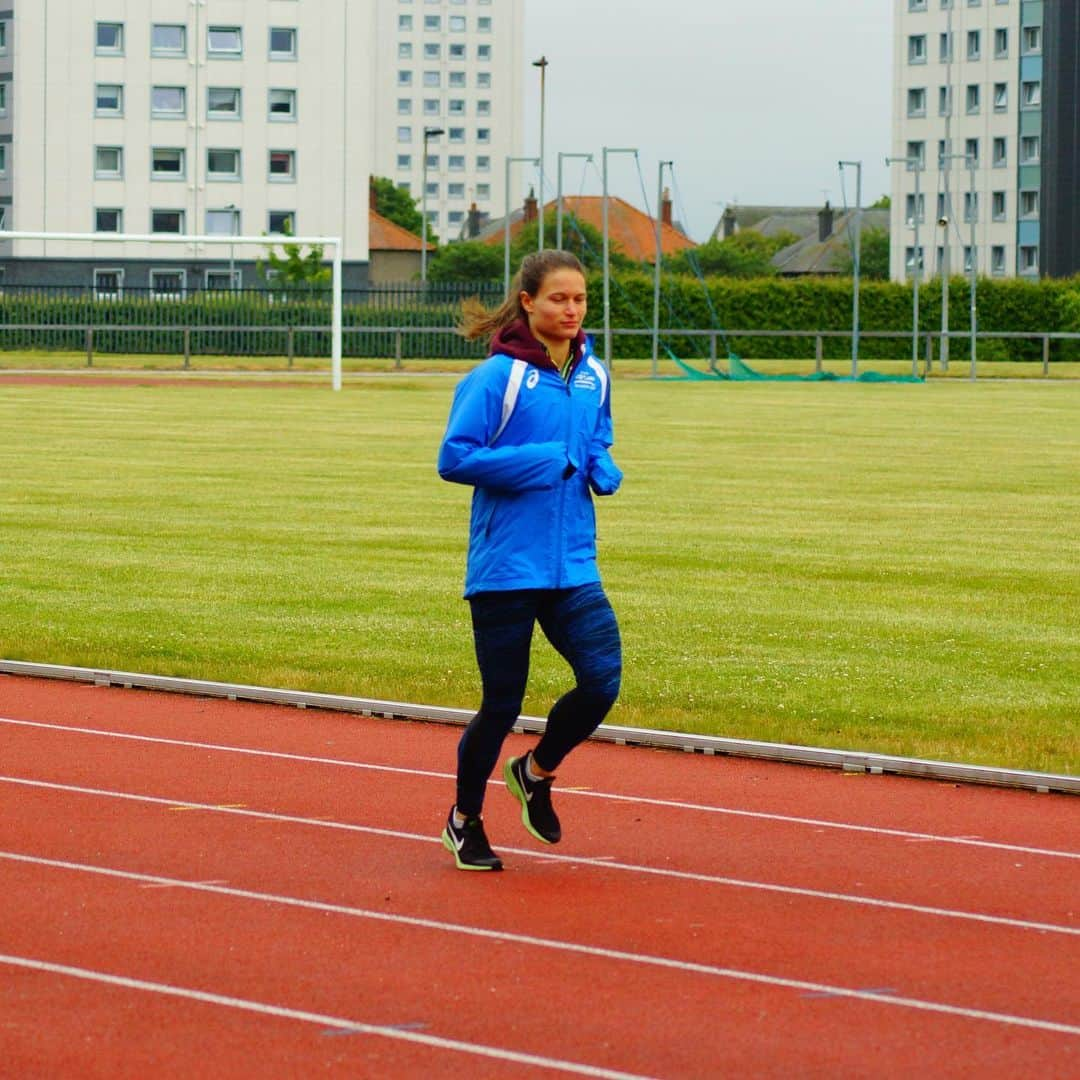
<path fill-rule="evenodd" d="M 184 807 L 188 810 L 205 810 L 207 813 L 235 814 L 242 818 L 255 818 L 262 821 L 286 822 L 293 825 L 309 825 L 315 828 L 333 828 L 348 833 L 363 833 L 367 836 L 386 836 L 396 840 L 415 840 L 421 843 L 441 843 L 435 836 L 423 833 L 405 833 L 400 829 L 378 828 L 374 825 L 354 825 L 347 822 L 327 821 L 323 818 L 299 818 L 293 814 L 271 813 L 265 810 L 240 810 L 230 807 L 216 807 L 206 802 L 188 802 L 184 799 L 163 799 L 153 795 L 134 795 L 130 792 L 104 791 L 97 787 L 79 787 L 72 784 L 54 784 L 44 780 L 26 780 L 19 777 L 0 775 L 2 784 L 19 784 L 25 787 L 42 787 L 49 791 L 70 792 L 76 795 L 91 795 L 99 798 L 126 799 L 133 802 L 148 802 L 164 806 L 170 809 Z M 907 904 L 896 900 L 879 900 L 873 896 L 858 896 L 845 892 L 827 892 L 821 889 L 804 889 L 798 886 L 774 885 L 768 881 L 750 881 L 742 878 L 720 877 L 715 874 L 699 874 L 692 870 L 674 870 L 660 866 L 646 866 L 639 863 L 615 862 L 607 855 L 598 858 L 589 855 L 557 855 L 546 851 L 534 851 L 529 848 L 508 848 L 499 846 L 500 851 L 528 859 L 545 860 L 548 862 L 569 863 L 575 866 L 595 866 L 600 869 L 625 870 L 631 874 L 649 874 L 656 877 L 673 878 L 679 881 L 700 881 L 705 885 L 727 886 L 734 889 L 755 889 L 759 892 L 781 893 L 788 896 L 802 896 L 809 900 L 826 900 L 841 904 L 858 904 L 863 907 L 877 907 L 893 912 L 909 912 L 915 915 L 929 915 L 935 918 L 963 919 L 987 926 L 1010 927 L 1016 930 L 1036 930 L 1040 933 L 1068 934 L 1080 936 L 1080 927 L 1061 926 L 1054 922 L 1034 922 L 1028 919 L 1012 919 L 1000 915 L 982 915 L 977 912 L 959 912 L 946 907 L 930 907 L 923 904 Z"/>

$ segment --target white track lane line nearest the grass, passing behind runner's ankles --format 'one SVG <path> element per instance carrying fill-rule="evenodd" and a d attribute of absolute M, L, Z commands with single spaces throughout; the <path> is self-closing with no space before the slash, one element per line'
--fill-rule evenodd
<path fill-rule="evenodd" d="M 69 731 L 77 734 L 100 735 L 108 739 L 127 739 L 135 742 L 159 743 L 165 746 L 185 746 L 194 750 L 207 750 L 222 754 L 246 754 L 253 757 L 279 758 L 285 761 L 302 761 L 308 765 L 332 765 L 343 769 L 364 769 L 372 772 L 391 772 L 406 777 L 427 777 L 433 780 L 454 780 L 453 772 L 432 772 L 424 769 L 406 769 L 391 765 L 369 765 L 363 761 L 349 761 L 336 757 L 314 757 L 306 754 L 285 754 L 280 751 L 253 750 L 247 746 L 228 746 L 220 743 L 203 743 L 185 739 L 164 739 L 156 735 L 137 735 L 123 731 L 106 731 L 99 728 L 70 727 L 63 724 L 41 724 L 36 720 L 14 720 L 0 717 L 0 724 L 11 724 L 28 728 L 45 728 L 53 731 Z M 492 784 L 501 784 L 500 780 L 491 780 Z M 935 833 L 913 833 L 901 828 L 883 828 L 877 825 L 855 825 L 848 822 L 825 821 L 818 818 L 798 818 L 792 814 L 767 813 L 760 810 L 737 810 L 732 807 L 707 806 L 698 802 L 684 802 L 677 799 L 651 799 L 638 795 L 615 795 L 609 792 L 593 792 L 583 788 L 561 787 L 561 795 L 576 795 L 584 798 L 609 799 L 615 802 L 633 802 L 639 806 L 666 807 L 675 810 L 692 810 L 701 813 L 726 814 L 734 818 L 753 818 L 759 821 L 778 821 L 792 825 L 811 825 L 814 828 L 835 828 L 851 833 L 870 833 L 877 836 L 895 836 L 906 840 L 924 840 L 935 843 L 957 843 L 972 848 L 991 848 L 999 851 L 1011 851 L 1026 855 L 1047 855 L 1051 859 L 1080 860 L 1080 851 L 1058 851 L 1053 848 L 1032 848 L 1018 843 L 1004 843 L 996 840 L 983 840 L 971 836 L 941 836 Z"/>

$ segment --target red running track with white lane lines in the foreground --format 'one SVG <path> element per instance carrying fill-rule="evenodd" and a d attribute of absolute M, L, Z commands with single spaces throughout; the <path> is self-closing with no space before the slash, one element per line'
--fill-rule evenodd
<path fill-rule="evenodd" d="M 1080 1075 L 1080 800 L 597 743 L 462 874 L 458 733 L 0 676 L 4 1070 Z"/>

